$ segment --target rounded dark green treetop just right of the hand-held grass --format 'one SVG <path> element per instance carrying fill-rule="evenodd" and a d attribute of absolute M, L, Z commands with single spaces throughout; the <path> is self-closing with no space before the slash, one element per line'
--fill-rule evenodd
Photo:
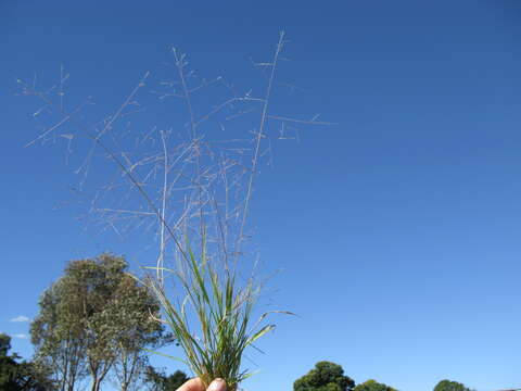
<path fill-rule="evenodd" d="M 355 381 L 344 376 L 344 369 L 338 364 L 320 362 L 307 375 L 293 383 L 294 391 L 351 391 Z"/>

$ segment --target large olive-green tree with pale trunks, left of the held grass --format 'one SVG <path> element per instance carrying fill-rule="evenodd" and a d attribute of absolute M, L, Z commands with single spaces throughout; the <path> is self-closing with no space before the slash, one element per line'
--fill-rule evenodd
<path fill-rule="evenodd" d="M 71 262 L 40 300 L 30 335 L 36 357 L 67 390 L 90 374 L 92 391 L 111 369 L 127 390 L 145 364 L 142 348 L 158 343 L 160 307 L 127 273 L 123 257 L 102 254 Z"/>

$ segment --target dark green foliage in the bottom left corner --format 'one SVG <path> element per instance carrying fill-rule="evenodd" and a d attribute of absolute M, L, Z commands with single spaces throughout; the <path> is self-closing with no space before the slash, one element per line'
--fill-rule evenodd
<path fill-rule="evenodd" d="M 8 355 L 11 337 L 0 333 L 0 390 L 2 391 L 53 391 L 48 371 L 34 363 L 22 362 L 16 353 Z"/>

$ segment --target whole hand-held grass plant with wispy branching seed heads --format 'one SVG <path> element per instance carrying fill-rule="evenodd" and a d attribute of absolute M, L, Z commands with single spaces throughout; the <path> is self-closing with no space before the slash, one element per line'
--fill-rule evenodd
<path fill-rule="evenodd" d="M 151 242 L 158 243 L 157 260 L 155 266 L 147 267 L 150 273 L 141 280 L 163 307 L 164 318 L 157 318 L 157 321 L 169 326 L 186 356 L 180 361 L 205 384 L 223 378 L 230 391 L 236 391 L 240 382 L 252 375 L 241 365 L 245 349 L 255 348 L 254 343 L 275 328 L 272 324 L 265 324 L 267 315 L 274 312 L 291 314 L 272 311 L 252 319 L 260 288 L 254 277 L 244 279 L 238 273 L 241 269 L 238 264 L 244 258 L 244 243 L 250 236 L 246 220 L 259 161 L 266 153 L 264 142 L 268 124 L 278 123 L 280 138 L 284 139 L 288 129 L 296 129 L 297 134 L 297 127 L 302 125 L 329 125 L 317 121 L 318 115 L 310 119 L 295 119 L 270 114 L 270 97 L 284 43 L 284 34 L 281 33 L 271 61 L 254 64 L 266 80 L 265 91 L 259 97 L 251 91 L 237 93 L 221 77 L 209 81 L 203 79 L 199 86 L 190 86 L 193 72 L 188 70 L 186 55 L 173 50 L 177 80 L 161 83 L 170 88 L 168 91 L 151 92 L 157 93 L 160 100 L 171 98 L 185 102 L 188 116 L 185 140 L 174 137 L 173 130 L 155 130 L 155 127 L 151 131 L 134 134 L 127 128 L 116 131 L 123 117 L 141 111 L 137 96 L 150 73 L 117 110 L 90 126 L 78 119 L 82 109 L 91 103 L 90 98 L 74 110 L 67 110 L 64 104 L 63 86 L 68 75 L 63 68 L 60 83 L 49 90 L 38 91 L 36 81 L 30 85 L 18 80 L 22 94 L 35 96 L 43 103 L 35 116 L 40 113 L 60 116 L 27 146 L 58 136 L 67 140 L 69 150 L 73 140 L 88 140 L 89 152 L 77 173 L 87 175 L 94 151 L 101 151 L 102 157 L 118 169 L 118 175 L 97 189 L 89 213 L 101 216 L 103 223 L 119 236 L 129 225 L 122 229 L 118 224 L 130 220 L 139 222 L 137 228 L 145 227 L 149 232 L 154 232 Z M 215 84 L 223 84 L 231 97 L 198 116 L 193 94 Z M 238 147 L 236 138 L 219 141 L 202 133 L 208 118 L 227 110 L 234 111 L 227 118 L 259 114 L 254 125 L 249 124 L 254 127 L 247 131 L 253 137 L 239 140 L 242 147 Z M 64 126 L 75 127 L 78 131 L 62 135 L 59 131 Z M 215 130 L 215 126 L 209 128 Z M 155 139 L 151 136 L 153 134 Z M 139 150 L 143 146 L 150 146 L 151 150 Z M 225 147 L 216 151 L 215 146 Z M 85 182 L 82 179 L 81 186 Z M 106 193 L 112 198 L 106 198 Z M 135 201 L 131 194 L 138 195 L 139 201 Z M 127 204 L 100 205 L 107 200 Z M 185 238 L 183 242 L 179 238 Z M 165 267 L 165 260 L 175 260 L 176 267 Z M 173 293 L 166 289 L 165 275 L 171 277 Z"/>

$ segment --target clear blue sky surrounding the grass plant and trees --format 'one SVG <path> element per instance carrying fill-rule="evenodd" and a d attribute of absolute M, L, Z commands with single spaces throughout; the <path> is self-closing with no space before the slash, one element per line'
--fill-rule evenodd
<path fill-rule="evenodd" d="M 54 207 L 75 178 L 63 149 L 23 148 L 36 108 L 16 78 L 50 85 L 63 64 L 72 99 L 110 113 L 173 45 L 247 87 L 283 29 L 279 80 L 303 91 L 281 109 L 338 125 L 277 142 L 263 169 L 267 301 L 300 318 L 277 319 L 246 389 L 291 390 L 321 360 L 403 391 L 521 387 L 520 18 L 518 1 L 2 1 L 0 330 L 27 333 L 67 260 L 138 256 Z"/>

